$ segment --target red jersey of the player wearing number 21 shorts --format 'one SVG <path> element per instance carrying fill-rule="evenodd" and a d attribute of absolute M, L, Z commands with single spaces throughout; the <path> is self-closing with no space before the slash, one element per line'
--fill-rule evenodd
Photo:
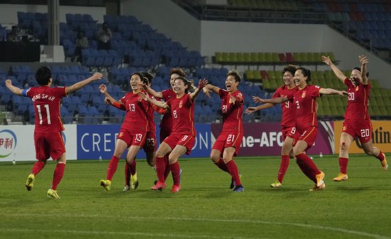
<path fill-rule="evenodd" d="M 230 95 L 240 97 L 243 100 L 235 103 L 230 101 Z M 243 103 L 244 95 L 239 91 L 229 93 L 224 89 L 219 90 L 220 99 L 222 99 L 223 128 L 222 132 L 243 132 Z"/>

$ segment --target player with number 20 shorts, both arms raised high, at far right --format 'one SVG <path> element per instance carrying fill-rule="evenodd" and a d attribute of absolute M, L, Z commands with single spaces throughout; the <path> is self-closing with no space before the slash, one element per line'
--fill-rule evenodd
<path fill-rule="evenodd" d="M 334 178 L 334 181 L 346 181 L 348 179 L 347 168 L 349 160 L 348 149 L 353 140 L 358 137 L 362 148 L 367 155 L 372 155 L 379 159 L 383 170 L 388 169 L 386 155 L 377 147 L 372 145 L 372 124 L 368 113 L 368 100 L 370 93 L 370 81 L 366 73 L 366 64 L 368 58 L 359 56 L 362 66 L 355 67 L 351 71 L 351 78 L 347 78 L 340 69 L 338 69 L 329 56 L 322 56 L 322 61 L 329 65 L 335 76 L 339 78 L 348 88 L 348 106 L 344 115 L 344 124 L 340 138 L 340 173 Z"/>

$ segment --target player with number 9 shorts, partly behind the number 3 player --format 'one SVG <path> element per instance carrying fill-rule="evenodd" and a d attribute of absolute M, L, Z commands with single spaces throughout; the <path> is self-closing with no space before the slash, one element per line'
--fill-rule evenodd
<path fill-rule="evenodd" d="M 296 71 L 296 66 L 287 65 L 283 69 L 283 81 L 284 85 L 274 92 L 272 98 L 279 98 L 288 95 L 290 92 L 296 91 L 296 85 L 294 83 L 294 73 Z M 253 97 L 254 100 L 259 100 L 257 96 Z M 250 114 L 256 111 L 261 111 L 263 109 L 268 109 L 270 107 L 275 106 L 276 104 L 266 103 L 257 107 L 248 107 L 244 113 Z M 298 139 L 298 133 L 296 132 L 296 107 L 292 102 L 287 101 L 281 104 L 281 109 L 283 111 L 283 115 L 281 117 L 281 133 L 283 133 L 283 147 L 281 148 L 281 163 L 279 174 L 277 174 L 277 179 L 274 183 L 270 185 L 270 187 L 282 187 L 283 179 L 285 177 L 285 173 L 289 167 L 289 157 L 293 157 L 293 144 L 294 139 Z"/>

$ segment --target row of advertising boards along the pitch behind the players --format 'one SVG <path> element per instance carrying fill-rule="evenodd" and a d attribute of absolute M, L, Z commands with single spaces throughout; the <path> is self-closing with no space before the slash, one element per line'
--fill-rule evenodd
<path fill-rule="evenodd" d="M 374 146 L 383 152 L 391 152 L 391 121 L 373 121 Z M 318 122 L 319 133 L 309 155 L 338 153 L 342 122 Z M 67 159 L 110 159 L 120 125 L 65 125 L 63 137 Z M 195 124 L 197 137 L 191 155 L 185 157 L 209 157 L 221 124 Z M 244 138 L 239 157 L 280 155 L 283 138 L 279 122 L 245 123 Z M 159 132 L 157 126 L 156 132 Z M 351 146 L 352 153 L 363 153 L 359 146 Z M 122 158 L 125 158 L 123 155 Z M 143 150 L 137 159 L 145 159 Z M 34 161 L 34 126 L 0 127 L 0 161 Z"/>

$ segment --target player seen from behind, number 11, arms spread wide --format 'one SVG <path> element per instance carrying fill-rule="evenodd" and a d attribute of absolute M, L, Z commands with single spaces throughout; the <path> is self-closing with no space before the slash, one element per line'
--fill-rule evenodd
<path fill-rule="evenodd" d="M 36 71 L 35 78 L 40 85 L 39 87 L 19 89 L 12 85 L 11 80 L 5 80 L 5 86 L 15 95 L 32 98 L 34 105 L 34 146 L 38 161 L 34 163 L 25 187 L 28 191 L 32 190 L 36 175 L 45 167 L 47 159 L 51 157 L 51 159 L 57 161 L 57 166 L 54 170 L 51 188 L 47 190 L 47 196 L 58 199 L 60 196 L 57 193 L 57 186 L 64 175 L 65 164 L 67 163 L 64 139 L 62 139 L 61 133 L 64 130 L 64 126 L 60 120 L 61 98 L 73 91 L 78 91 L 95 80 L 102 79 L 102 74 L 95 73 L 90 78 L 77 82 L 70 87 L 51 88 L 53 80 L 48 67 L 40 67 Z"/>

